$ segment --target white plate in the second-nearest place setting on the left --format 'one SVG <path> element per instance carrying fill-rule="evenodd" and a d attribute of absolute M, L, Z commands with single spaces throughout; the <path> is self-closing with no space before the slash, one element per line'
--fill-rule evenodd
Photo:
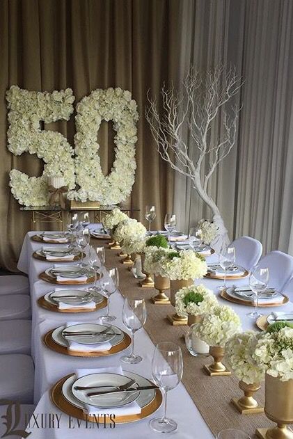
<path fill-rule="evenodd" d="M 98 333 L 102 333 L 104 330 L 106 330 L 106 334 L 100 336 Z M 64 337 L 64 332 L 70 332 L 72 335 L 67 335 Z M 81 335 L 74 336 L 74 333 L 80 333 L 80 332 L 93 332 L 96 333 L 95 335 L 90 336 L 84 336 Z M 121 334 L 121 331 L 120 331 Z M 116 333 L 111 325 L 100 325 L 100 324 L 77 324 L 72 326 L 67 326 L 62 331 L 62 336 L 65 338 L 65 340 L 70 340 L 71 342 L 75 343 L 81 343 L 81 344 L 98 344 L 98 343 L 104 343 L 109 342 L 110 340 L 115 337 Z"/>

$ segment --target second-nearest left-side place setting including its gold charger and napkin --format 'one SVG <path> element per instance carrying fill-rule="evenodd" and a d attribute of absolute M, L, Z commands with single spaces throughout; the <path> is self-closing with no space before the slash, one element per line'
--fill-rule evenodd
<path fill-rule="evenodd" d="M 131 344 L 131 338 L 117 326 L 72 322 L 49 330 L 43 342 L 52 351 L 64 355 L 99 357 L 124 351 Z"/>

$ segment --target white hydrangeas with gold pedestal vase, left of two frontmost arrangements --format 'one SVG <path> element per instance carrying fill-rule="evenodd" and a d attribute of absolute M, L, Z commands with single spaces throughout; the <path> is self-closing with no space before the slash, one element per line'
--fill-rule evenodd
<path fill-rule="evenodd" d="M 193 334 L 209 345 L 209 353 L 214 358 L 212 365 L 205 369 L 210 376 L 230 375 L 222 363 L 226 342 L 241 330 L 241 321 L 229 306 L 216 306 L 212 314 L 204 314 L 200 323 L 193 325 Z"/>

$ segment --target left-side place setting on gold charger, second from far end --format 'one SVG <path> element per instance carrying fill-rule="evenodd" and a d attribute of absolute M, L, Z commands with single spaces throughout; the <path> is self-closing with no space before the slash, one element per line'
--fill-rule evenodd
<path fill-rule="evenodd" d="M 42 247 L 33 253 L 35 259 L 49 262 L 78 261 L 85 253 L 74 247 Z"/>

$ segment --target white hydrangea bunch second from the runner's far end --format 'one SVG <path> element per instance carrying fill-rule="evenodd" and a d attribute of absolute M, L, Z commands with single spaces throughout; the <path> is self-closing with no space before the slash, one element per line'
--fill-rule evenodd
<path fill-rule="evenodd" d="M 116 227 L 113 238 L 115 241 L 122 243 L 122 249 L 130 255 L 139 253 L 145 241 L 146 228 L 136 219 L 128 218 L 121 221 Z"/>

